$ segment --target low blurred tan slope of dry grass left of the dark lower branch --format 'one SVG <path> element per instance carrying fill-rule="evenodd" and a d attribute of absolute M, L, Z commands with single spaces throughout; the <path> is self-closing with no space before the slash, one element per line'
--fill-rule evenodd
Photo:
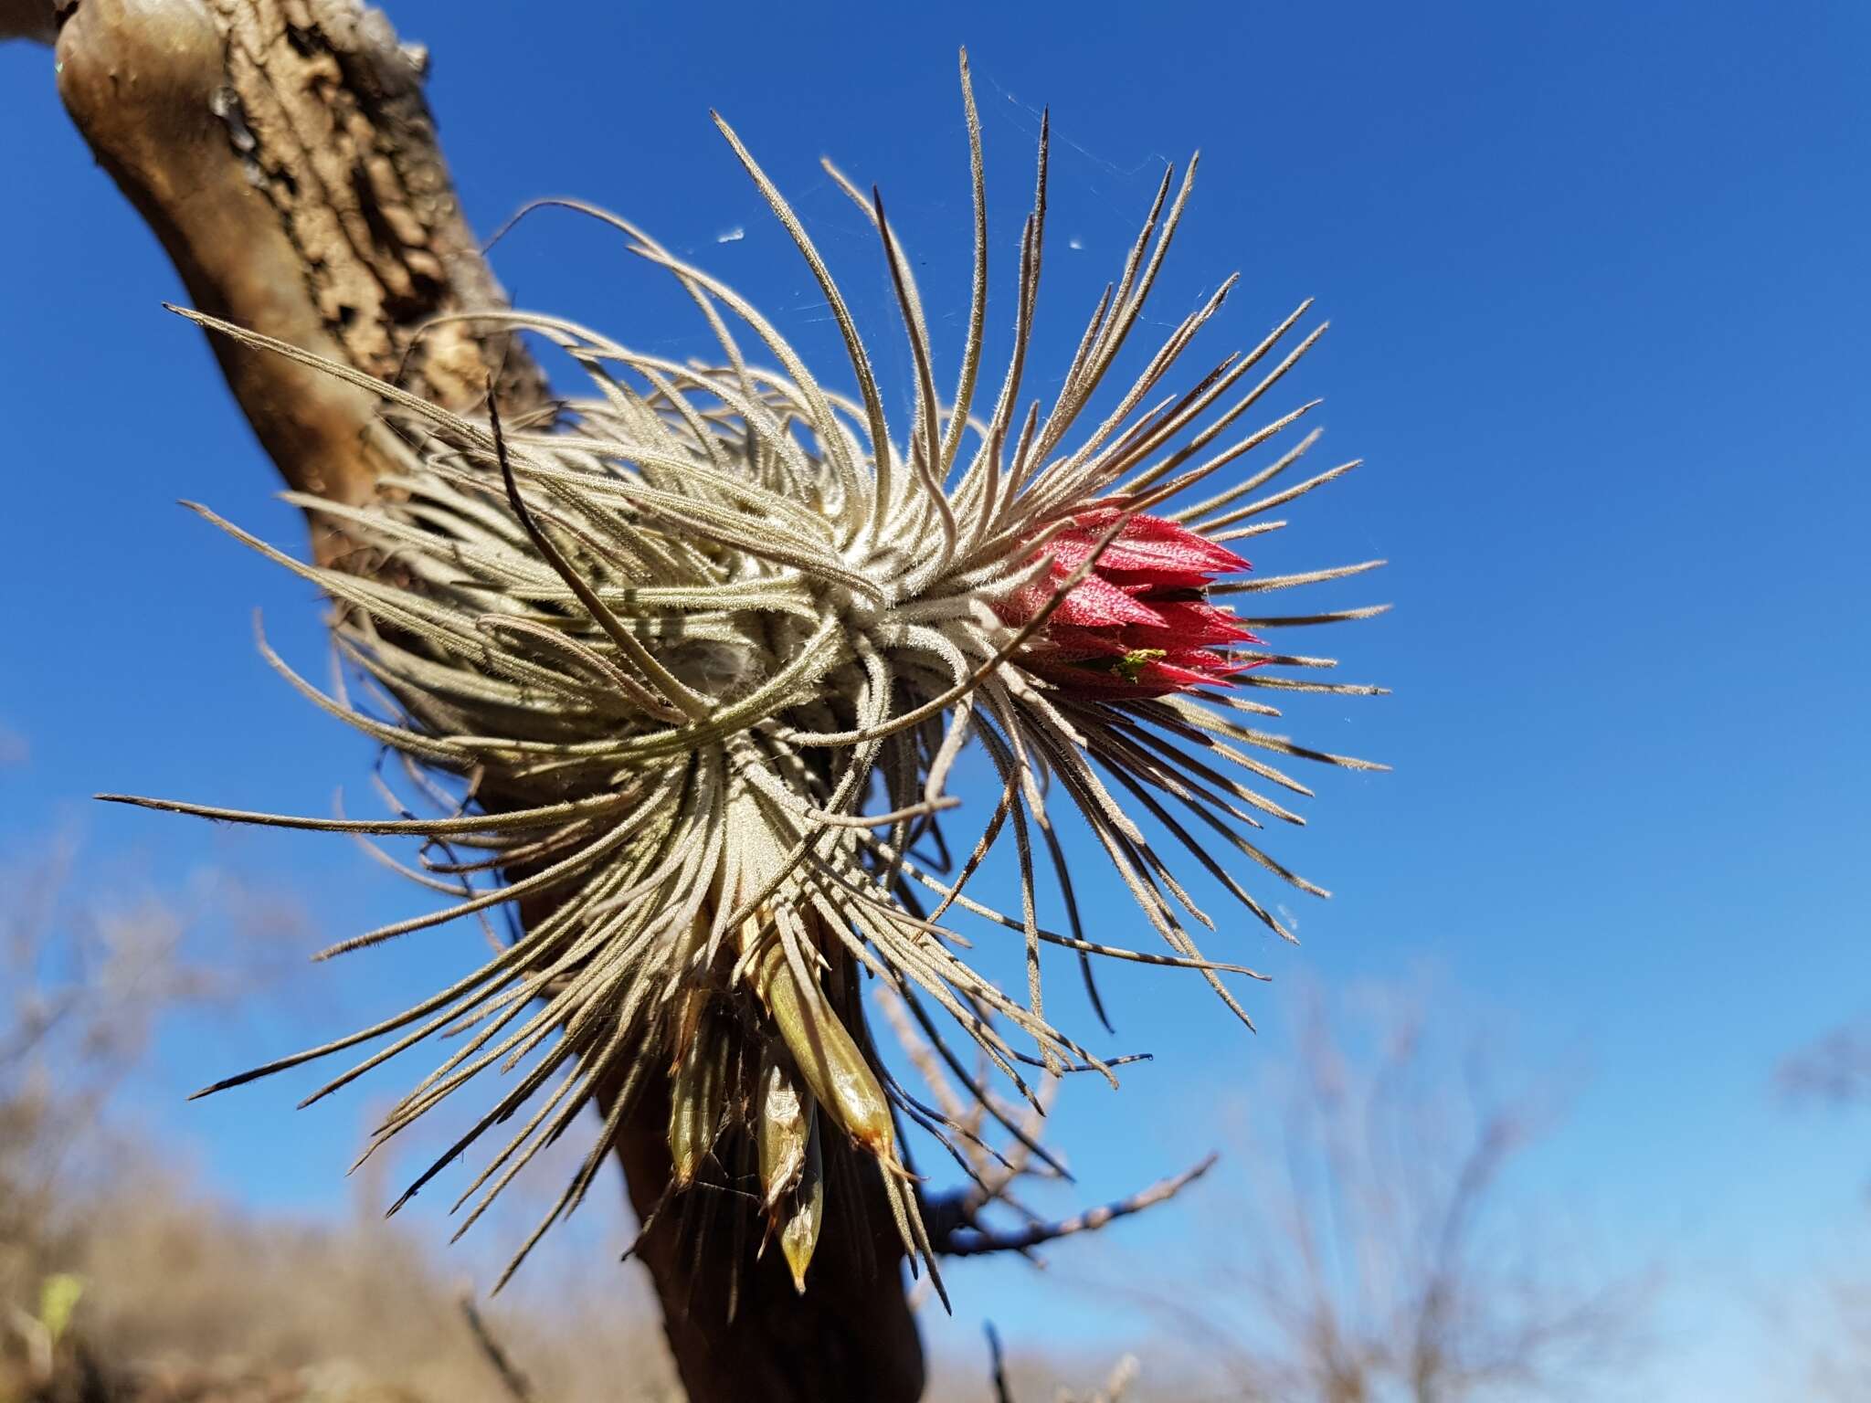
<path fill-rule="evenodd" d="M 86 1205 L 47 1248 L 47 1266 L 84 1281 L 65 1356 L 107 1360 L 118 1377 L 109 1397 L 206 1379 L 269 1381 L 264 1397 L 511 1399 L 468 1328 L 462 1287 L 427 1244 L 374 1218 L 243 1220 L 172 1184 L 135 1182 Z M 589 1300 L 550 1319 L 483 1309 L 535 1397 L 677 1399 L 659 1332 L 640 1315 L 619 1319 L 621 1304 Z"/>

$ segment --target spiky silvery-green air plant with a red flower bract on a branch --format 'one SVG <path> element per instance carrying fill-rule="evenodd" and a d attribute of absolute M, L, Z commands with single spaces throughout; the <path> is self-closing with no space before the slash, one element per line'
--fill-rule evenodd
<path fill-rule="evenodd" d="M 191 314 L 247 346 L 359 383 L 389 406 L 406 468 L 378 501 L 292 498 L 370 552 L 369 572 L 299 563 L 202 511 L 335 600 L 341 679 L 350 672 L 361 683 L 341 681 L 326 694 L 264 640 L 262 649 L 307 698 L 399 756 L 436 812 L 412 812 L 395 795 L 387 819 L 133 803 L 417 838 L 419 866 L 406 870 L 453 900 L 326 954 L 505 904 L 528 917 L 473 973 L 413 1008 L 211 1091 L 384 1040 L 322 1096 L 453 1034 L 449 1055 L 391 1109 L 372 1149 L 483 1072 L 511 1072 L 486 1113 L 410 1186 L 413 1193 L 492 1128 L 518 1121 L 457 1203 L 473 1199 L 471 1223 L 612 1089 L 591 1152 L 524 1257 L 586 1193 L 632 1100 L 662 1081 L 672 1199 L 739 1190 L 735 1199 L 758 1205 L 765 1240 L 778 1242 L 806 1289 L 819 1233 L 836 1225 L 831 1199 L 864 1160 L 881 1171 L 911 1263 L 934 1268 L 902 1124 L 950 1149 L 956 1137 L 975 1137 L 952 1098 L 924 1106 L 891 1076 L 863 1014 L 866 980 L 887 991 L 894 1018 L 907 1014 L 902 1025 L 969 1089 L 971 1106 L 1023 1143 L 1025 1117 L 965 1068 L 943 1016 L 1029 1102 L 1040 1100 L 1031 1068 L 1115 1081 L 1123 1059 L 1100 1057 L 1048 1018 L 1044 947 L 1076 954 L 1087 984 L 1093 956 L 1194 971 L 1248 1018 L 1226 976 L 1259 976 L 1201 952 L 1192 926 L 1212 920 L 1158 842 L 1184 849 L 1289 937 L 1242 885 L 1235 859 L 1323 894 L 1259 840 L 1269 821 L 1300 821 L 1276 793 L 1308 789 L 1282 767 L 1371 767 L 1263 730 L 1280 711 L 1255 698 L 1379 690 L 1315 681 L 1308 673 L 1330 668 L 1328 658 L 1263 642 L 1295 625 L 1379 610 L 1246 617 L 1222 602 L 1377 563 L 1255 576 L 1239 554 L 1285 524 L 1272 518 L 1276 509 L 1355 466 L 1291 481 L 1317 434 L 1218 486 L 1224 470 L 1313 408 L 1235 432 L 1323 325 L 1289 344 L 1308 311 L 1300 305 L 1254 350 L 1166 389 L 1233 286 L 1224 282 L 1083 427 L 1175 238 L 1192 161 L 1181 185 L 1173 170 L 1164 174 L 1050 408 L 1035 400 L 1022 410 L 1046 230 L 1042 122 L 1012 355 L 984 395 L 988 215 L 965 56 L 962 94 L 975 258 L 949 398 L 937 391 L 911 260 L 881 198 L 827 166 L 874 224 L 892 281 L 915 367 L 907 425 L 889 423 L 872 357 L 801 221 L 718 118 L 831 309 L 849 355 L 840 374 L 849 372 L 855 397 L 827 387 L 737 292 L 601 211 L 589 213 L 692 297 L 720 344 L 720 365 L 636 352 L 569 320 L 494 312 L 505 327 L 563 350 L 591 393 L 516 419 L 503 419 L 490 397 L 485 417 L 464 417 Z M 758 357 L 743 346 L 747 335 Z M 761 357 L 778 370 L 760 369 Z M 352 696 L 357 685 L 363 698 Z M 979 838 L 950 866 L 939 816 L 956 804 L 947 780 L 971 739 L 999 793 Z M 1057 816 L 1070 810 L 1083 836 L 1061 836 Z M 967 890 L 1008 834 L 1018 913 Z M 1068 849 L 1087 842 L 1128 885 L 1166 950 L 1087 933 L 1068 861 Z M 1042 918 L 1037 847 L 1061 885 L 1063 922 Z M 965 937 L 945 924 L 952 911 L 1022 943 L 1020 997 L 969 962 Z M 1093 1005 L 1102 1018 L 1095 986 Z M 984 1164 L 979 1154 L 956 1158 Z"/>

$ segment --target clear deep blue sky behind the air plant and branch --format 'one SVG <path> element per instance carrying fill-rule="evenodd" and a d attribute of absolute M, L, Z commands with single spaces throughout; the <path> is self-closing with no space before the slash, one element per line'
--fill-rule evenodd
<path fill-rule="evenodd" d="M 1753 1379 L 1755 1302 L 1837 1265 L 1841 1235 L 1864 1240 L 1871 1169 L 1864 1117 L 1792 1115 L 1768 1087 L 1779 1055 L 1871 1012 L 1850 875 L 1871 836 L 1871 11 L 391 13 L 434 51 L 430 101 L 479 230 L 539 195 L 606 204 L 833 363 L 821 301 L 707 120 L 720 108 L 877 327 L 898 397 L 889 282 L 821 153 L 881 183 L 952 357 L 967 297 L 956 45 L 982 103 L 1003 312 L 1050 103 L 1040 355 L 1057 376 L 1164 161 L 1201 148 L 1153 318 L 1171 324 L 1239 269 L 1211 348 L 1257 340 L 1306 296 L 1332 320 L 1287 402 L 1327 395 L 1317 453 L 1366 468 L 1308 499 L 1255 565 L 1392 561 L 1321 599 L 1394 614 L 1308 647 L 1394 696 L 1291 716 L 1300 739 L 1396 771 L 1321 776 L 1310 827 L 1285 838 L 1282 855 L 1336 892 L 1287 898 L 1298 950 L 1246 926 L 1218 937 L 1278 976 L 1252 993 L 1263 1034 L 1175 978 L 1115 980 L 1123 1042 L 1158 1061 L 1128 1079 L 1139 1094 L 1078 1091 L 1057 1135 L 1087 1197 L 1168 1173 L 1278 1055 L 1298 978 L 1433 971 L 1529 1063 L 1581 1072 L 1529 1192 L 1583 1203 L 1611 1257 L 1675 1268 L 1669 1386 L 1699 1392 L 1650 1396 Z M 0 726 L 26 752 L 0 767 L 0 836 L 17 855 L 82 832 L 103 872 L 236 870 L 301 894 L 329 939 L 419 909 L 342 840 L 86 801 L 324 812 L 335 786 L 365 784 L 369 750 L 251 647 L 260 608 L 316 668 L 311 593 L 174 505 L 303 539 L 202 340 L 159 311 L 180 282 L 71 133 L 49 67 L 45 51 L 0 49 Z M 638 346 L 707 348 L 612 236 L 571 217 L 524 226 L 496 268 L 529 307 Z M 286 1085 L 189 1107 L 178 1094 L 397 1003 L 475 939 L 427 933 L 307 973 L 262 1020 L 178 1033 L 144 1115 L 196 1139 L 230 1195 L 341 1203 L 363 1098 L 294 1117 Z M 1130 1244 L 1173 1266 L 1175 1214 L 1128 1227 Z M 958 1278 L 964 1334 L 980 1315 L 1035 1339 L 1117 1328 L 1018 1265 Z"/>

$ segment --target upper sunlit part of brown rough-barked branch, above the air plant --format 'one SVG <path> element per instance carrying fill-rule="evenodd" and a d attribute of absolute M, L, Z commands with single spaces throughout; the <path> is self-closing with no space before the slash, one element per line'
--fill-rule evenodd
<path fill-rule="evenodd" d="M 195 305 L 466 408 L 503 369 L 544 382 L 505 333 L 438 314 L 503 307 L 421 95 L 421 52 L 355 0 L 79 0 L 58 92 Z M 296 488 L 357 503 L 400 449 L 365 391 L 211 340 L 260 445 Z M 320 559 L 342 541 L 314 529 Z"/>

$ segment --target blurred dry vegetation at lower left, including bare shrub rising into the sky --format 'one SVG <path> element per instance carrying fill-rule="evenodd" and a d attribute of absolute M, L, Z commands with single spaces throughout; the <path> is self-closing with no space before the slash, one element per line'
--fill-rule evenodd
<path fill-rule="evenodd" d="M 65 866 L 0 874 L 0 1403 L 511 1403 L 428 1244 L 365 1210 L 245 1218 L 112 1113 L 159 1021 L 251 988 L 254 967 L 193 939 L 195 898 L 73 905 Z M 239 896 L 211 892 L 238 913 L 226 933 L 284 945 L 290 913 Z M 359 1205 L 376 1197 L 365 1186 Z M 550 1311 L 485 1308 L 533 1397 L 679 1397 L 660 1332 L 608 1276 Z"/>

